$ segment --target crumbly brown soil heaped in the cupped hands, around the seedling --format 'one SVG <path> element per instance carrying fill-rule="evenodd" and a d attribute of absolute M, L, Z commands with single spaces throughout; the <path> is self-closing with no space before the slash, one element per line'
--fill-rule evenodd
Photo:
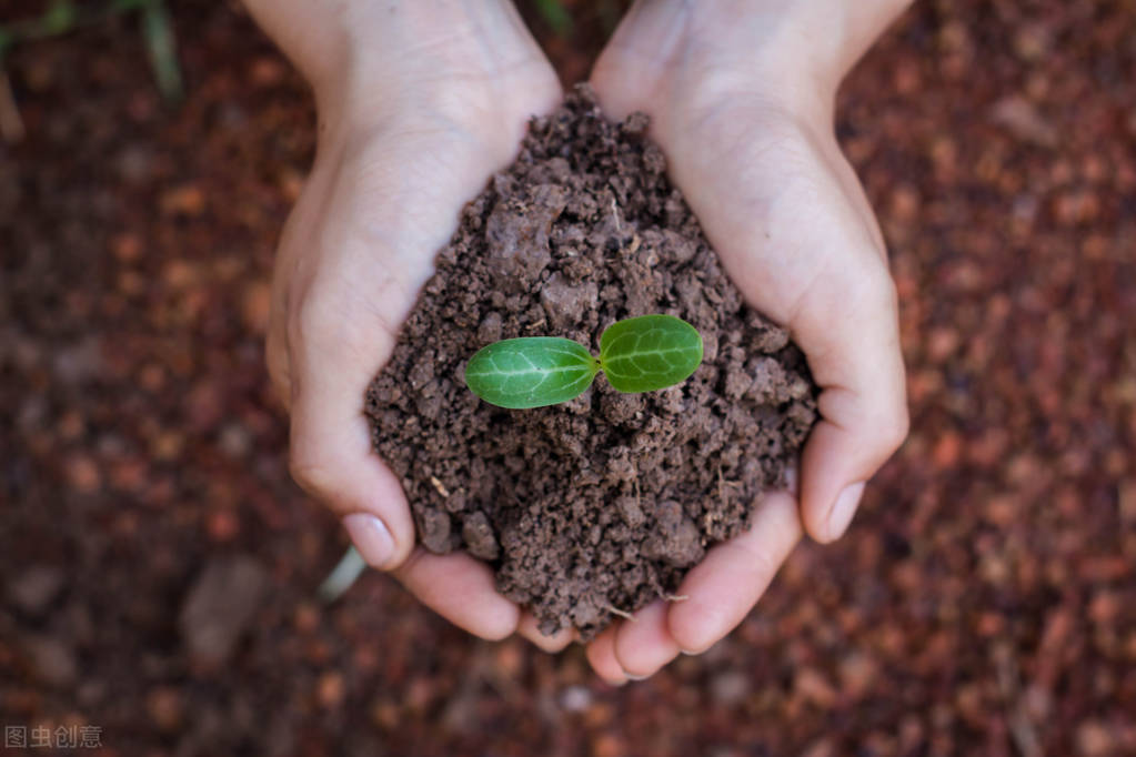
<path fill-rule="evenodd" d="M 534 119 L 517 161 L 466 207 L 367 390 L 375 451 L 421 542 L 492 563 L 546 633 L 590 639 L 673 596 L 786 483 L 816 419 L 802 353 L 744 304 L 646 128 L 643 115 L 607 120 L 583 85 Z M 465 386 L 485 344 L 548 335 L 596 350 L 604 328 L 646 313 L 702 335 L 704 361 L 679 386 L 623 395 L 599 378 L 525 411 Z"/>

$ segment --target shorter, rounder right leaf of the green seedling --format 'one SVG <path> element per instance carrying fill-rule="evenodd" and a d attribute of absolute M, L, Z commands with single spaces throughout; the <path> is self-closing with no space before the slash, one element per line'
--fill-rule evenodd
<path fill-rule="evenodd" d="M 702 336 L 674 316 L 612 323 L 600 337 L 600 365 L 617 392 L 654 392 L 685 380 L 702 362 Z"/>

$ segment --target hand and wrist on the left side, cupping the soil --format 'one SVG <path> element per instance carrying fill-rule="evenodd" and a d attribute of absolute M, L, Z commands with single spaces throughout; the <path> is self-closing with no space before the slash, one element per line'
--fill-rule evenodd
<path fill-rule="evenodd" d="M 520 613 L 484 563 L 415 548 L 361 405 L 461 207 L 512 160 L 529 116 L 554 108 L 560 86 L 509 2 L 468 14 L 434 1 L 340 3 L 351 10 L 335 17 L 302 0 L 250 5 L 315 85 L 320 117 L 276 258 L 267 345 L 291 413 L 293 476 L 342 516 L 368 563 L 471 633 L 510 636 Z"/>

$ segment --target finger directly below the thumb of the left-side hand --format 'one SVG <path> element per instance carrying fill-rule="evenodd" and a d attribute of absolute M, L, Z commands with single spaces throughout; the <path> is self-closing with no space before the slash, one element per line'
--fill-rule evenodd
<path fill-rule="evenodd" d="M 496 592 L 490 567 L 467 554 L 419 548 L 392 573 L 424 605 L 475 636 L 500 641 L 517 630 L 517 605 Z"/>

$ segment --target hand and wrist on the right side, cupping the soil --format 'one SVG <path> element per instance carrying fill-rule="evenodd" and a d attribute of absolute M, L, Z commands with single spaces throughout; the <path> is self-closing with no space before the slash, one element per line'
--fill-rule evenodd
<path fill-rule="evenodd" d="M 838 538 L 864 482 L 907 435 L 884 239 L 832 127 L 838 79 L 870 40 L 863 15 L 837 18 L 852 5 L 640 2 L 592 75 L 609 116 L 652 117 L 670 175 L 730 278 L 751 305 L 791 329 L 822 388 L 821 419 L 801 460 L 800 514 L 790 494 L 766 496 L 753 528 L 687 574 L 678 589 L 687 600 L 650 605 L 637 622 L 596 638 L 588 658 L 611 682 L 649 675 L 679 650 L 701 653 L 728 633 L 799 540 L 802 521 L 819 541 Z M 888 5 L 901 6 L 877 0 L 859 12 L 883 22 Z M 843 52 L 809 41 L 828 27 L 841 32 Z M 818 48 L 837 52 L 810 58 Z"/>

